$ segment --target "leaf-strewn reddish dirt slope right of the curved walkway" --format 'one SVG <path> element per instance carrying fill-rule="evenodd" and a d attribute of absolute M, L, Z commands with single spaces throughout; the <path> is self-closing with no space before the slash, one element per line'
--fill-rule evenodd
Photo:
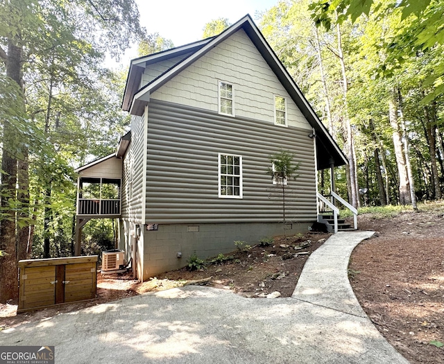
<path fill-rule="evenodd" d="M 377 236 L 353 252 L 350 283 L 375 327 L 410 363 L 444 363 L 442 206 L 394 218 L 359 216 L 359 229 Z"/>

